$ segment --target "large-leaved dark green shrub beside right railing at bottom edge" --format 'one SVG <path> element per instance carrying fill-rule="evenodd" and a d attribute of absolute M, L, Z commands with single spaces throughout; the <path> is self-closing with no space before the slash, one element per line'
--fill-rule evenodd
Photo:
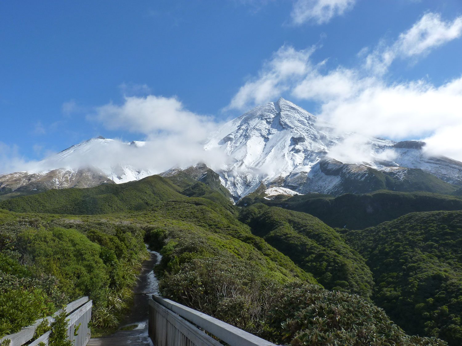
<path fill-rule="evenodd" d="M 408 336 L 382 309 L 357 295 L 287 285 L 267 315 L 272 339 L 301 345 L 447 345 Z M 271 334 L 270 334 L 271 335 Z"/>

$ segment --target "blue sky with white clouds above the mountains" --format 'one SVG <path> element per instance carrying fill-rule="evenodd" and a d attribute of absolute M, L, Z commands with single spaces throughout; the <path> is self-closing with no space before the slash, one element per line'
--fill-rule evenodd
<path fill-rule="evenodd" d="M 220 122 L 279 96 L 346 131 L 377 113 L 365 134 L 428 137 L 450 155 L 462 126 L 462 2 L 326 3 L 3 1 L 0 158 L 37 160 L 99 135 L 143 140 L 174 131 L 178 110 L 199 123 Z M 338 90 L 325 90 L 331 85 Z M 172 107 L 142 122 L 130 100 Z M 381 102 L 404 102 L 406 122 L 399 122 L 403 111 L 383 110 Z M 172 122 L 159 125 L 170 111 Z M 382 128 L 395 120 L 402 131 Z"/>

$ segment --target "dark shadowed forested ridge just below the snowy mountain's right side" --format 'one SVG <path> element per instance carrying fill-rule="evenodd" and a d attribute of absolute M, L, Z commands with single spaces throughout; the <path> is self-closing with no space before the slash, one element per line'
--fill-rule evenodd
<path fill-rule="evenodd" d="M 243 198 L 239 205 L 265 203 L 314 215 L 330 227 L 364 229 L 417 211 L 461 210 L 462 199 L 429 192 L 376 191 L 332 197 L 311 193 L 284 200 L 267 200 L 263 191 Z"/>

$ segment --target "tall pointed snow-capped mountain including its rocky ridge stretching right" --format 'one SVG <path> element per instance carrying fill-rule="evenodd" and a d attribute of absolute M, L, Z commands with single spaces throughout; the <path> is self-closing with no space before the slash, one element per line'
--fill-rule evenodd
<path fill-rule="evenodd" d="M 261 182 L 298 193 L 334 195 L 404 189 L 404 185 L 409 190 L 439 192 L 427 186 L 444 185 L 443 181 L 433 181 L 433 176 L 431 183 L 419 185 L 419 179 L 428 173 L 462 185 L 462 163 L 427 157 L 421 142 L 369 138 L 363 143 L 369 150 L 366 161 L 343 163 L 331 157 L 352 135 L 337 134 L 332 125 L 281 98 L 223 125 L 205 149 L 220 149 L 230 156 L 231 163 L 220 167 L 219 174 L 223 185 L 237 198 L 254 191 Z"/>

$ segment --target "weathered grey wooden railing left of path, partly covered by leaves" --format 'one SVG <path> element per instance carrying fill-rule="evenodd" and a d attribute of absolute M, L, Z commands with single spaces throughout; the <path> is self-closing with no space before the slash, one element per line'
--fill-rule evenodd
<path fill-rule="evenodd" d="M 90 328 L 88 328 L 88 322 L 91 319 L 91 306 L 92 301 L 88 300 L 88 297 L 82 297 L 69 303 L 63 309 L 66 312 L 67 321 L 67 340 L 72 340 L 74 346 L 85 346 L 90 339 Z M 56 311 L 53 316 L 59 315 L 63 310 Z M 22 328 L 18 333 L 6 335 L 0 339 L 0 343 L 3 340 L 11 340 L 11 346 L 21 346 L 32 340 L 34 337 L 35 329 L 45 319 L 49 323 L 55 321 L 53 316 L 48 316 L 36 320 L 36 322 L 28 327 Z M 79 326 L 77 336 L 74 336 L 75 327 Z M 40 342 L 44 342 L 48 346 L 48 340 L 51 332 L 47 332 L 41 335 L 36 340 L 33 340 L 29 346 L 36 346 Z"/>

